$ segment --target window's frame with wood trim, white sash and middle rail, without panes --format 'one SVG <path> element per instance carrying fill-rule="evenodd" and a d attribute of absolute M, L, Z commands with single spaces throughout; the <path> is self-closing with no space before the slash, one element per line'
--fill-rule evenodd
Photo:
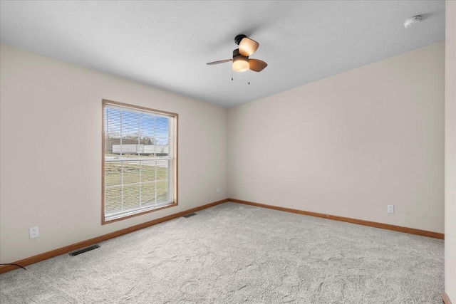
<path fill-rule="evenodd" d="M 162 116 L 167 117 L 169 119 L 169 129 L 170 129 L 170 140 L 168 144 L 168 156 L 160 159 L 157 159 L 156 154 L 153 157 L 148 158 L 140 158 L 138 160 L 134 160 L 134 162 L 138 162 L 140 164 L 142 161 L 155 161 L 155 160 L 167 160 L 168 164 L 168 171 L 167 171 L 167 185 L 168 185 L 168 195 L 169 201 L 162 202 L 160 204 L 156 204 L 157 200 L 155 199 L 155 204 L 147 204 L 146 206 L 138 206 L 136 208 L 130 208 L 125 210 L 120 210 L 116 212 L 106 213 L 105 212 L 105 190 L 107 186 L 105 184 L 105 164 L 110 162 L 132 162 L 131 159 L 125 160 L 125 157 L 122 157 L 122 153 L 120 153 L 119 159 L 106 159 L 105 157 L 105 148 L 106 148 L 106 127 L 105 127 L 105 112 L 106 108 L 118 108 L 119 110 L 127 110 L 129 112 L 140 112 L 145 113 L 148 115 L 155 115 L 155 116 Z M 102 124 L 102 207 L 101 207 L 101 224 L 108 224 L 113 221 L 120 221 L 122 219 L 128 219 L 132 216 L 139 216 L 141 214 L 146 214 L 152 211 L 157 211 L 165 208 L 170 208 L 172 206 L 177 206 L 177 117 L 176 113 L 166 112 L 162 110 L 154 110 L 150 108 L 144 108 L 136 105 L 129 105 L 126 103 L 118 103 L 112 100 L 105 100 L 103 99 L 103 124 Z M 120 136 L 122 137 L 122 136 Z M 138 145 L 139 147 L 139 145 Z M 157 177 L 155 176 L 155 179 Z M 140 182 L 141 183 L 141 182 Z M 156 183 L 156 182 L 155 182 Z M 122 198 L 121 198 L 122 199 Z M 123 207 L 123 206 L 122 206 Z"/>

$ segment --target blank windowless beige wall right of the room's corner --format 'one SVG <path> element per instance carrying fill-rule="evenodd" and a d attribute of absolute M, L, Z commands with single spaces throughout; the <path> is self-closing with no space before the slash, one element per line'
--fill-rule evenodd
<path fill-rule="evenodd" d="M 442 233 L 444 78 L 442 41 L 230 108 L 229 197 Z"/>

